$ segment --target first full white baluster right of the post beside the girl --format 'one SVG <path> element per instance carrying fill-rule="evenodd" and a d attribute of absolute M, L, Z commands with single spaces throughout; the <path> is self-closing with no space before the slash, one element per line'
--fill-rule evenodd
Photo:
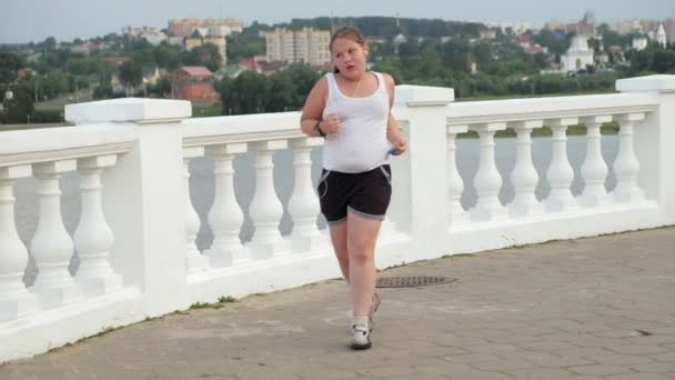
<path fill-rule="evenodd" d="M 494 134 L 497 130 L 506 129 L 506 123 L 490 122 L 478 124 L 473 129 L 478 132 L 481 139 L 481 156 L 478 171 L 473 180 L 478 193 L 478 202 L 471 211 L 471 219 L 473 221 L 490 221 L 506 214 L 498 198 L 502 177 L 494 161 Z"/>

